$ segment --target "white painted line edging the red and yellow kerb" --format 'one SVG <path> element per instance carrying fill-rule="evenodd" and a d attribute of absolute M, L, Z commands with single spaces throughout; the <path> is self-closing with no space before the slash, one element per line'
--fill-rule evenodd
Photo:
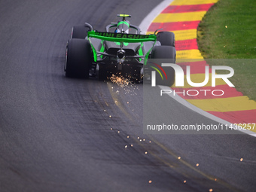
<path fill-rule="evenodd" d="M 140 23 L 139 28 L 142 29 L 142 33 L 146 33 L 148 30 L 148 27 L 150 26 L 150 24 L 152 23 L 152 21 L 154 20 L 154 18 L 157 17 L 157 15 L 159 15 L 168 5 L 170 5 L 173 2 L 173 0 L 164 0 L 163 2 L 161 2 L 159 5 L 157 5 L 156 8 L 154 8 L 148 15 L 147 17 L 144 18 L 144 20 L 142 20 L 142 23 Z M 164 90 L 172 90 L 170 87 L 166 87 L 166 86 L 159 86 L 161 89 Z M 209 114 L 206 111 L 203 111 L 201 108 L 197 108 L 195 105 L 192 105 L 190 102 L 187 102 L 185 99 L 182 99 L 181 96 L 175 95 L 172 96 L 171 94 L 168 94 L 170 97 L 172 97 L 172 99 L 175 99 L 177 102 L 181 103 L 181 105 L 184 105 L 187 108 L 190 108 L 191 110 L 197 112 L 198 114 L 203 115 L 204 117 L 207 117 L 211 120 L 215 120 L 218 123 L 222 123 L 224 125 L 233 125 L 233 123 L 228 122 L 227 120 L 223 120 L 219 117 L 214 116 L 213 114 Z M 250 130 L 239 130 L 242 133 L 246 133 L 250 136 L 254 136 L 256 137 L 256 133 L 250 131 Z"/>

